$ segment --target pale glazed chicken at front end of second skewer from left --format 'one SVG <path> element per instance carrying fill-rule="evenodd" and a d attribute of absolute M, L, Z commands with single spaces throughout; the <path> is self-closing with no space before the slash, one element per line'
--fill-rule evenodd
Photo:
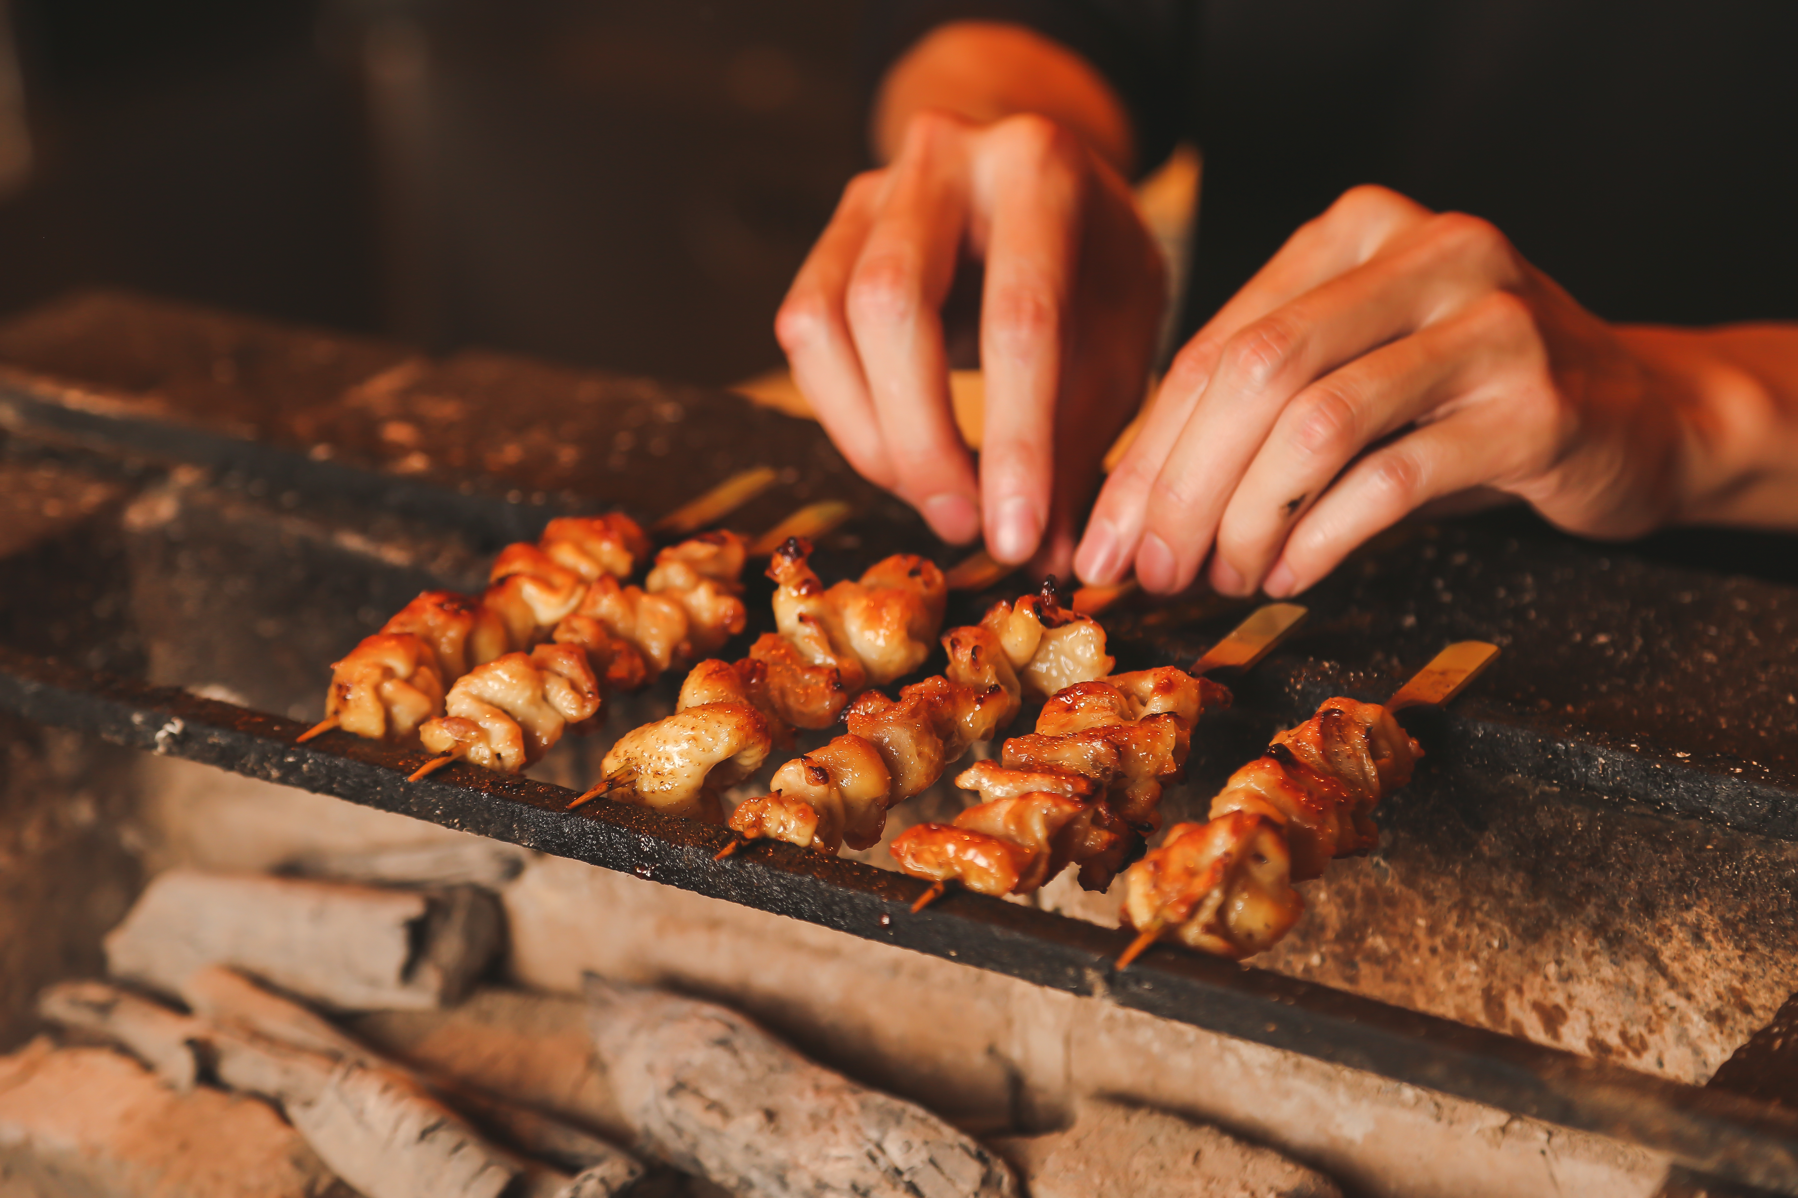
<path fill-rule="evenodd" d="M 601 693 L 586 654 L 538 645 L 475 666 L 450 688 L 444 715 L 419 738 L 432 753 L 516 774 L 561 740 L 568 724 L 593 718 Z"/>

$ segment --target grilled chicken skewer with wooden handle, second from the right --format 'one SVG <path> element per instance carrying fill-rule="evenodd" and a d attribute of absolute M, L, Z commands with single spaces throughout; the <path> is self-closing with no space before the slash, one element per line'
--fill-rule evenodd
<path fill-rule="evenodd" d="M 935 885 L 1027 894 L 1073 864 L 1081 885 L 1104 891 L 1160 828 L 1167 781 L 1179 776 L 1192 726 L 1230 691 L 1203 677 L 1248 666 L 1284 639 L 1304 607 L 1277 603 L 1239 625 L 1194 665 L 1079 681 L 1043 704 L 1036 731 L 1005 742 L 1000 762 L 976 762 L 955 785 L 982 801 L 948 824 L 919 824 L 894 841 L 899 868 Z"/>

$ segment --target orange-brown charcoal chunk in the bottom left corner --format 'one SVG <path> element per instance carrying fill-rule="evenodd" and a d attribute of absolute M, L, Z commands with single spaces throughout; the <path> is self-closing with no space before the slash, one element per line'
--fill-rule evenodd
<path fill-rule="evenodd" d="M 266 1103 L 43 1038 L 0 1056 L 0 1194 L 356 1198 Z"/>

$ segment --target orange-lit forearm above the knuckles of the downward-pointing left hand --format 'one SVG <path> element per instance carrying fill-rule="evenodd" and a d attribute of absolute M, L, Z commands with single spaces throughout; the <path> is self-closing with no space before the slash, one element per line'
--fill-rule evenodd
<path fill-rule="evenodd" d="M 955 22 L 926 34 L 881 81 L 870 140 L 888 162 L 912 117 L 951 111 L 978 124 L 1037 113 L 1072 129 L 1129 178 L 1136 137 L 1129 113 L 1091 63 L 1021 25 Z"/>

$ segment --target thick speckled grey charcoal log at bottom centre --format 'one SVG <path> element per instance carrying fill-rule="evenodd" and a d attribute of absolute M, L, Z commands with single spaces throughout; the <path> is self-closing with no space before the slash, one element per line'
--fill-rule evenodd
<path fill-rule="evenodd" d="M 588 979 L 593 1040 L 653 1157 L 757 1198 L 1000 1198 L 1010 1169 L 930 1112 L 849 1081 L 748 1018 Z"/>

